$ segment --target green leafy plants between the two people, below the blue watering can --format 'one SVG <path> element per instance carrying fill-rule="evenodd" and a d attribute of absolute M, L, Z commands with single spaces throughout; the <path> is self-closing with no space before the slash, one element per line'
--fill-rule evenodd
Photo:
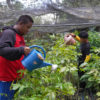
<path fill-rule="evenodd" d="M 51 38 L 55 40 L 55 36 Z M 75 47 L 65 47 L 63 37 L 57 36 L 56 39 L 55 46 L 47 53 L 46 62 L 58 64 L 58 69 L 53 71 L 51 67 L 45 67 L 26 71 L 23 80 L 13 85 L 13 89 L 19 89 L 15 100 L 61 100 L 60 97 L 65 95 L 74 95 L 75 87 L 69 73 L 73 74 L 77 70 L 76 52 L 73 53 Z"/>

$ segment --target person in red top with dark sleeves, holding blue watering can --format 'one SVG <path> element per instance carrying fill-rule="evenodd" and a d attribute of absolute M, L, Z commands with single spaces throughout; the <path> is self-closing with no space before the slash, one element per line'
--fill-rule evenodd
<path fill-rule="evenodd" d="M 19 70 L 24 69 L 21 60 L 30 53 L 25 46 L 23 35 L 32 27 L 33 19 L 29 15 L 19 17 L 12 27 L 4 27 L 0 36 L 0 100 L 12 100 L 11 83 L 20 79 Z"/>

